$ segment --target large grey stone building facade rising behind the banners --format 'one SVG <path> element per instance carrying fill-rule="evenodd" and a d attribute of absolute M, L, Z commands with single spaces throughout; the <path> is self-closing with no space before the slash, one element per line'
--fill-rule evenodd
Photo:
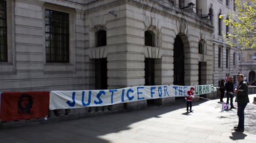
<path fill-rule="evenodd" d="M 212 84 L 223 70 L 212 73 L 216 47 L 226 45 L 207 18 L 220 2 L 0 2 L 1 92 Z"/>

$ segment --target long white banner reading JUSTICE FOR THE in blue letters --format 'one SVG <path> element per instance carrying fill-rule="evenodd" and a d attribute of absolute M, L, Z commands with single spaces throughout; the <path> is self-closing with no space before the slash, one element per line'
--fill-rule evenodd
<path fill-rule="evenodd" d="M 192 86 L 159 85 L 107 90 L 51 91 L 50 110 L 106 106 L 139 100 L 184 97 Z M 217 91 L 211 84 L 194 86 L 195 95 Z"/>

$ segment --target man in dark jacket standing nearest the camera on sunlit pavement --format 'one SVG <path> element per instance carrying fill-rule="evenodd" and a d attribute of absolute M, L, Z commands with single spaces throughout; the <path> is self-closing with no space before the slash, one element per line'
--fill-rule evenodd
<path fill-rule="evenodd" d="M 234 127 L 234 130 L 236 131 L 244 131 L 244 109 L 249 103 L 249 98 L 248 98 L 248 85 L 246 82 L 243 80 L 244 76 L 242 74 L 237 75 L 238 79 L 238 87 L 237 90 L 234 91 L 235 94 L 237 94 L 237 102 L 238 102 L 238 117 L 239 117 L 239 122 L 238 126 Z"/>

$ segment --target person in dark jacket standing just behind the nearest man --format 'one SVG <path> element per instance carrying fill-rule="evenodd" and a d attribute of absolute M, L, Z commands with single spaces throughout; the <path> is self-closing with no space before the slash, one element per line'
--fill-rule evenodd
<path fill-rule="evenodd" d="M 225 90 L 227 91 L 227 104 L 229 104 L 229 98 L 230 98 L 230 109 L 234 108 L 233 106 L 233 97 L 234 97 L 234 84 L 233 84 L 233 78 L 230 77 L 227 83 L 225 84 Z"/>

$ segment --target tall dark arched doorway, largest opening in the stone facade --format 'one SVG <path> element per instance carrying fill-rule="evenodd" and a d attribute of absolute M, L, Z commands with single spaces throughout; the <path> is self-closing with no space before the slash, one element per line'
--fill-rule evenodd
<path fill-rule="evenodd" d="M 174 85 L 185 85 L 184 83 L 184 48 L 179 35 L 174 41 Z"/>

